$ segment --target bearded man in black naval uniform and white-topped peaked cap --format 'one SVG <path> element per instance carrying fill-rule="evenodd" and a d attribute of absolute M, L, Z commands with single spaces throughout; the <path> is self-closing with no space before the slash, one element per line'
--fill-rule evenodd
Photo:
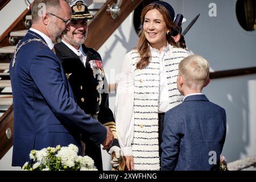
<path fill-rule="evenodd" d="M 71 31 L 64 35 L 61 43 L 55 45 L 55 51 L 71 84 L 77 104 L 85 113 L 92 115 L 112 130 L 114 142 L 107 151 L 109 154 L 115 152 L 116 158 L 110 163 L 117 167 L 122 151 L 119 148 L 114 116 L 109 108 L 108 83 L 102 59 L 93 48 L 84 45 L 88 32 L 88 20 L 93 19 L 93 15 L 88 11 L 88 6 L 92 2 L 93 0 L 76 0 L 70 3 Z M 94 160 L 98 170 L 102 170 L 100 145 L 89 140 L 86 135 L 82 136 L 82 141 L 85 143 L 85 155 Z"/>

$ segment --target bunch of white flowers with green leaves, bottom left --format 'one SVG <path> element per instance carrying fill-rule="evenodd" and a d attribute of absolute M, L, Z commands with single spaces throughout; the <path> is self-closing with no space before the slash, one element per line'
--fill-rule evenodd
<path fill-rule="evenodd" d="M 79 156 L 79 148 L 74 144 L 68 147 L 56 146 L 32 150 L 30 159 L 33 164 L 26 162 L 22 169 L 29 171 L 97 171 L 94 161 L 89 156 Z"/>

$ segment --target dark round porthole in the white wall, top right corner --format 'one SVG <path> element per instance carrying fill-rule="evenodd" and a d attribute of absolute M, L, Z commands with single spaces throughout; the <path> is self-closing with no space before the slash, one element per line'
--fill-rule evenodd
<path fill-rule="evenodd" d="M 256 1 L 237 0 L 237 20 L 246 31 L 256 30 Z"/>

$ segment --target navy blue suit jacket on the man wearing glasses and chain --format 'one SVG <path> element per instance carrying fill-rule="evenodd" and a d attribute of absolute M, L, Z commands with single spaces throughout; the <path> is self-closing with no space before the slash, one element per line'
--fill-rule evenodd
<path fill-rule="evenodd" d="M 28 31 L 21 40 L 40 38 Z M 42 42 L 21 47 L 14 68 L 10 63 L 14 105 L 13 166 L 29 161 L 30 151 L 44 147 L 68 146 L 81 151 L 80 136 L 88 135 L 96 144 L 106 137 L 106 128 L 77 106 L 60 60 Z"/>

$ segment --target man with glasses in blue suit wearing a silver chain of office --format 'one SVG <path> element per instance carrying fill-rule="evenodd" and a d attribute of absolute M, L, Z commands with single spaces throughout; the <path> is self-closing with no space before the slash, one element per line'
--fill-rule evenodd
<path fill-rule="evenodd" d="M 13 166 L 23 166 L 31 150 L 79 147 L 86 134 L 104 149 L 113 133 L 77 106 L 60 60 L 51 50 L 70 30 L 71 9 L 65 0 L 35 0 L 32 26 L 16 46 L 10 63 L 14 102 Z"/>

